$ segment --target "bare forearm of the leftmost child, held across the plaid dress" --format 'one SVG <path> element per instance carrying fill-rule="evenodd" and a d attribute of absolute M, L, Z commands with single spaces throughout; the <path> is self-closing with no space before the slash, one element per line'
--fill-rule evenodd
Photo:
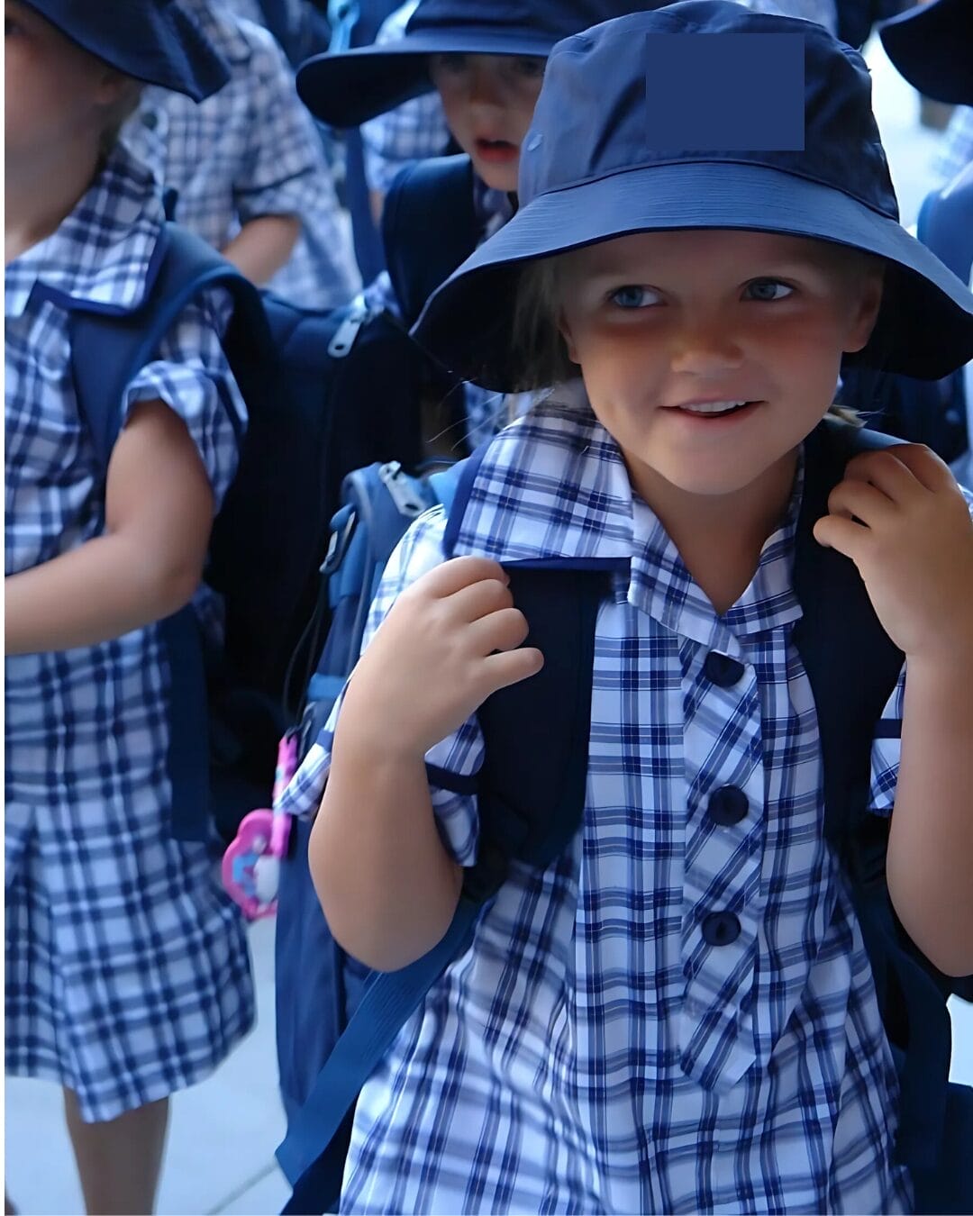
<path fill-rule="evenodd" d="M 161 620 L 199 584 L 193 554 L 167 563 L 135 536 L 96 536 L 4 580 L 7 654 L 68 651 Z"/>

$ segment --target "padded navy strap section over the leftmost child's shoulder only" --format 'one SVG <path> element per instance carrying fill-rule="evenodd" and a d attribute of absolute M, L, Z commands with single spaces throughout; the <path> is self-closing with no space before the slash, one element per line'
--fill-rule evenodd
<path fill-rule="evenodd" d="M 78 409 L 103 469 L 120 429 L 125 387 L 152 361 L 179 314 L 204 288 L 225 287 L 234 295 L 234 320 L 224 345 L 237 381 L 243 382 L 244 396 L 246 382 L 255 373 L 260 343 L 254 342 L 254 334 L 263 333 L 266 326 L 257 288 L 212 246 L 176 224 L 167 224 L 159 240 L 165 243 L 162 264 L 140 308 L 120 316 L 77 311 L 72 317 L 71 358 Z M 231 421 L 241 428 L 235 413 Z"/>

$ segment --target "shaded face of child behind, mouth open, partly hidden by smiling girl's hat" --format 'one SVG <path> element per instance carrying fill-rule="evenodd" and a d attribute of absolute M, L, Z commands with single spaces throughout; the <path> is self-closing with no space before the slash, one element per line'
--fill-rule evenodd
<path fill-rule="evenodd" d="M 432 55 L 429 75 L 454 139 L 494 190 L 517 190 L 523 142 L 544 79 L 542 58 Z"/>

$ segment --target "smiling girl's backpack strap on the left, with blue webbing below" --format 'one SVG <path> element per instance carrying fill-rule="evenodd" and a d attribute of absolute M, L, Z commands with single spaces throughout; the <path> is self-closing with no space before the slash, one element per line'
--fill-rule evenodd
<path fill-rule="evenodd" d="M 465 501 L 463 483 L 476 462 L 456 465 L 429 479 L 449 507 Z M 542 671 L 501 689 L 480 706 L 489 739 L 484 767 L 463 792 L 477 792 L 480 848 L 446 935 L 410 967 L 376 974 L 361 1003 L 317 1076 L 308 1100 L 291 1120 L 277 1160 L 294 1187 L 287 1211 L 321 1210 L 341 1192 L 345 1143 L 336 1132 L 358 1094 L 392 1047 L 432 985 L 473 940 L 484 903 L 496 894 L 516 857 L 546 866 L 568 846 L 581 821 L 591 719 L 595 619 L 606 585 L 604 570 L 508 568 L 517 604 L 530 621 L 528 643 L 546 655 Z M 505 756 L 542 755 L 525 772 Z M 551 781 L 551 773 L 559 781 Z M 450 788 L 450 776 L 429 770 Z M 525 786 L 524 782 L 528 782 Z M 455 782 L 452 782 L 455 784 Z M 322 1145 L 327 1145 L 322 1153 Z"/>

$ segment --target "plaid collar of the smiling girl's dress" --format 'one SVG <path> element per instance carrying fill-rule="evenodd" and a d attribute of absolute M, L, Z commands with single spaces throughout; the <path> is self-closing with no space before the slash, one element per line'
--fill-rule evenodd
<path fill-rule="evenodd" d="M 619 601 L 682 636 L 712 642 L 712 604 L 659 518 L 632 494 L 618 445 L 591 412 L 580 381 L 558 385 L 474 458 L 479 467 L 456 528 L 456 556 L 603 565 Z M 802 452 L 784 518 L 765 541 L 750 585 L 721 618 L 731 632 L 760 632 L 802 614 L 792 572 L 803 484 Z"/>

